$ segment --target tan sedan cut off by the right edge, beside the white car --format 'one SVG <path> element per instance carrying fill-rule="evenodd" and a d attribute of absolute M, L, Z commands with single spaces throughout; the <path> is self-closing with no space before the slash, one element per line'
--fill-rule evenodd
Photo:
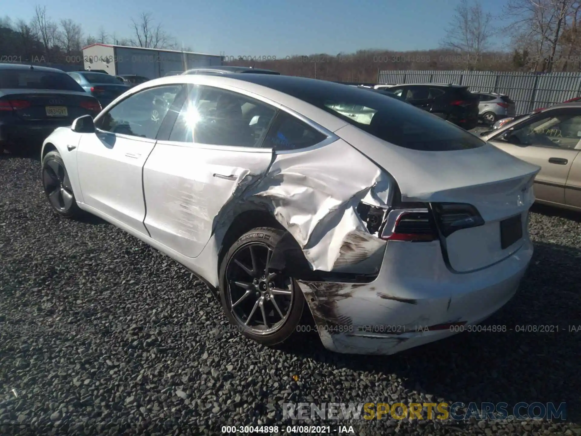
<path fill-rule="evenodd" d="M 541 167 L 537 202 L 581 210 L 581 103 L 552 106 L 482 139 Z"/>

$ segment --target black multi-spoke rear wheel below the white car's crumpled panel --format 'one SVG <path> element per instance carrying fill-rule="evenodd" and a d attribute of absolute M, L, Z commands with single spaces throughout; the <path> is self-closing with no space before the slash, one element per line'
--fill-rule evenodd
<path fill-rule="evenodd" d="M 304 296 L 292 277 L 270 267 L 284 231 L 256 228 L 231 246 L 220 267 L 220 299 L 230 323 L 246 337 L 275 345 L 295 331 Z"/>

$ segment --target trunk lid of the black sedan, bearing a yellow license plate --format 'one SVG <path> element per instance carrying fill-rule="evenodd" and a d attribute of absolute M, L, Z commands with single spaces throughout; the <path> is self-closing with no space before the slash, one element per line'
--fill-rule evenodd
<path fill-rule="evenodd" d="M 26 121 L 72 122 L 80 116 L 96 115 L 98 112 L 91 109 L 91 104 L 97 103 L 95 99 L 77 91 L 4 90 L 0 95 L 0 101 L 2 109 Z"/>

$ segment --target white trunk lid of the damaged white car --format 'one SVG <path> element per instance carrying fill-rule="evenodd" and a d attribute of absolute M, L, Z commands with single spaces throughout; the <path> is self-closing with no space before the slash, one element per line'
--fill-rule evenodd
<path fill-rule="evenodd" d="M 403 202 L 430 203 L 436 218 L 440 213 L 436 206 L 442 203 L 476 208 L 483 223 L 440 234 L 453 270 L 468 272 L 492 265 L 517 251 L 528 238 L 528 209 L 535 201 L 532 184 L 538 166 L 489 144 L 457 151 L 419 151 L 382 141 L 353 126 L 335 133 L 393 176 Z M 448 213 L 446 219 L 462 217 Z"/>

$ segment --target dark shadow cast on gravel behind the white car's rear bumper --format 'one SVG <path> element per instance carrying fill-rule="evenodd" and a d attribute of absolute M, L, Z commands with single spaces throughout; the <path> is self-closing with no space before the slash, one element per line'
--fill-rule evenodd
<path fill-rule="evenodd" d="M 509 408 L 518 402 L 565 402 L 567 420 L 579 423 L 579 265 L 580 249 L 536 243 L 517 294 L 482 323 L 506 326 L 505 333 L 461 333 L 392 356 L 333 353 L 318 337 L 310 346 L 301 337 L 284 348 L 331 366 L 394 374 L 406 389 L 433 395 L 434 402 L 506 402 Z"/>

